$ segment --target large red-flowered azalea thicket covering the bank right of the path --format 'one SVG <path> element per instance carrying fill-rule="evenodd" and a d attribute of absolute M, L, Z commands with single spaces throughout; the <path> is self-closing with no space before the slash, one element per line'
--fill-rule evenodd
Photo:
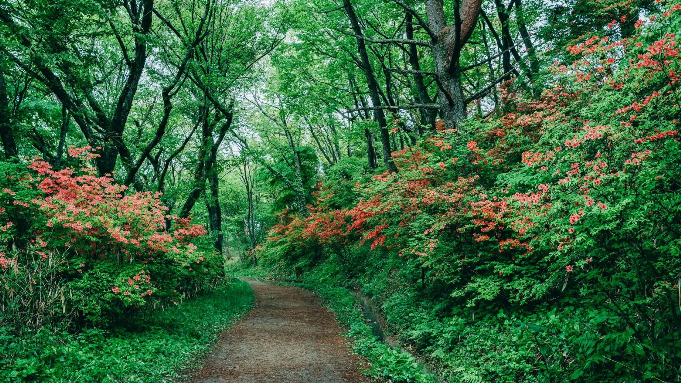
<path fill-rule="evenodd" d="M 635 27 L 573 41 L 539 97 L 510 81 L 487 118 L 439 121 L 398 173 L 323 184 L 267 248 L 325 247 L 452 376 L 678 379 L 681 5 Z"/>

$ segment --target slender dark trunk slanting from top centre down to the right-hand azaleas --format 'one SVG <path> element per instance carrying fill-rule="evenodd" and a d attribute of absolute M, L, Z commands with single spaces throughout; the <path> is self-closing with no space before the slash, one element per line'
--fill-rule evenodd
<path fill-rule="evenodd" d="M 379 131 L 381 132 L 383 163 L 385 163 L 385 168 L 389 173 L 397 173 L 397 167 L 392 162 L 392 152 L 390 150 L 390 133 L 387 131 L 385 113 L 383 112 L 383 109 L 381 109 L 381 97 L 379 96 L 378 82 L 374 76 L 373 69 L 371 69 L 369 56 L 366 53 L 366 44 L 364 44 L 364 39 L 362 38 L 362 29 L 360 28 L 360 23 L 357 20 L 357 15 L 355 14 L 355 10 L 353 9 L 350 0 L 343 0 L 343 5 L 350 20 L 350 24 L 352 25 L 353 32 L 355 35 L 357 35 L 357 48 L 362 59 L 362 69 L 364 69 L 364 76 L 366 76 L 366 84 L 369 88 L 369 97 L 371 98 L 373 107 L 377 108 L 374 111 L 374 116 L 379 123 Z"/>

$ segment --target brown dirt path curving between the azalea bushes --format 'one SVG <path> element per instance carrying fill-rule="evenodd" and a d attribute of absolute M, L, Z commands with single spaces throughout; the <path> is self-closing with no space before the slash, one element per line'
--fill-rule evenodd
<path fill-rule="evenodd" d="M 248 281 L 255 307 L 223 334 L 191 382 L 368 382 L 338 323 L 308 290 Z"/>

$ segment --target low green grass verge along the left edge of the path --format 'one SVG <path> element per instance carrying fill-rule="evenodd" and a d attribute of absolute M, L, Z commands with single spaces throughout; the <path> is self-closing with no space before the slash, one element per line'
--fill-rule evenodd
<path fill-rule="evenodd" d="M 0 382 L 173 382 L 200 364 L 253 298 L 236 281 L 117 331 L 16 337 L 0 328 Z"/>

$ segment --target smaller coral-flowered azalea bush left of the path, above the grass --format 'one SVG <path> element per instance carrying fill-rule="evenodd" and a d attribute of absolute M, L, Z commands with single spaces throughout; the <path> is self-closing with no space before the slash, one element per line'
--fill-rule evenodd
<path fill-rule="evenodd" d="M 91 148 L 69 155 L 59 170 L 38 158 L 0 165 L 3 325 L 107 324 L 223 276 L 202 226 L 169 216 L 159 193 L 98 176 Z"/>

